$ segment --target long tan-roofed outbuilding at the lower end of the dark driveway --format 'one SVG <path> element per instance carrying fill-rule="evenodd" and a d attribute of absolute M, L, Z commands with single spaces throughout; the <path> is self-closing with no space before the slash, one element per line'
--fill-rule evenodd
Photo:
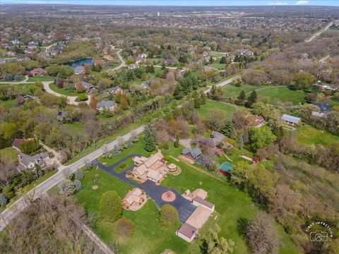
<path fill-rule="evenodd" d="M 198 230 L 203 227 L 203 224 L 207 222 L 210 215 L 214 212 L 215 205 L 205 200 L 207 192 L 203 189 L 197 189 L 192 193 L 189 193 L 189 190 L 187 190 L 183 194 L 183 197 L 190 200 L 192 205 L 197 208 L 189 218 L 186 219 L 186 222 L 180 226 L 176 234 L 190 243 L 196 238 Z"/>

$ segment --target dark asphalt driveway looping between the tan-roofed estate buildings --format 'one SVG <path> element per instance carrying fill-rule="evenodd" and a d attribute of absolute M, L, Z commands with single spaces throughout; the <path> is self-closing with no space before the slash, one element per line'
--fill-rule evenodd
<path fill-rule="evenodd" d="M 112 176 L 117 177 L 117 179 L 120 179 L 121 181 L 124 181 L 125 183 L 129 183 L 131 186 L 141 188 L 147 195 L 150 196 L 156 203 L 157 206 L 160 208 L 162 205 L 170 204 L 173 205 L 179 212 L 179 220 L 180 222 L 184 223 L 189 218 L 189 216 L 196 210 L 196 207 L 191 204 L 189 200 L 186 200 L 186 198 L 183 198 L 182 195 L 173 188 L 168 188 L 165 186 L 157 186 L 155 182 L 147 180 L 145 183 L 136 183 L 135 181 L 131 181 L 130 179 L 126 178 L 127 171 L 130 171 L 133 169 L 134 165 L 129 167 L 129 169 L 126 169 L 125 171 L 118 173 L 114 171 L 115 167 L 118 167 L 119 164 L 124 162 L 126 159 L 130 159 L 132 157 L 136 156 L 143 156 L 143 155 L 129 155 L 127 157 L 124 157 L 124 159 L 121 159 L 119 162 L 114 163 L 113 165 L 106 167 L 105 165 L 101 164 L 100 162 L 93 161 L 94 165 L 97 165 L 97 167 L 100 167 L 100 169 L 105 170 L 107 173 L 112 174 Z M 175 193 L 177 198 L 173 202 L 165 202 L 162 200 L 161 196 L 162 193 L 165 193 L 166 191 L 172 191 Z"/>

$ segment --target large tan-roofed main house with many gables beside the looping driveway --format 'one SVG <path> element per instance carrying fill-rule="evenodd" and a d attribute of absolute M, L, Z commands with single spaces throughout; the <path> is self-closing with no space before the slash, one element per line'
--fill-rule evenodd
<path fill-rule="evenodd" d="M 134 167 L 132 175 L 142 182 L 150 180 L 160 183 L 169 171 L 160 150 L 154 155 L 150 155 L 149 158 L 136 156 L 133 162 L 136 167 Z"/>

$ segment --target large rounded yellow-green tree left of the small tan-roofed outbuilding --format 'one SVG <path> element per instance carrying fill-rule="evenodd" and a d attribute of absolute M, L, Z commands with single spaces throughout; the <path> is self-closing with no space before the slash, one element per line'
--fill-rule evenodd
<path fill-rule="evenodd" d="M 100 220 L 104 222 L 115 222 L 121 217 L 121 198 L 116 191 L 107 191 L 101 195 L 99 211 Z"/>

